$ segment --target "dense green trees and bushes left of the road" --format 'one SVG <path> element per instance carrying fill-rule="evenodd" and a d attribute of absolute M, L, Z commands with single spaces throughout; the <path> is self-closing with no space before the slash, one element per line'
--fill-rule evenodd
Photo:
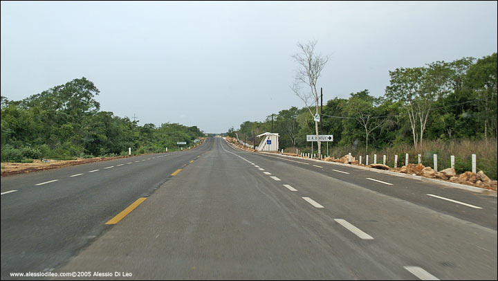
<path fill-rule="evenodd" d="M 100 91 L 86 78 L 75 79 L 12 101 L 1 97 L 1 161 L 164 152 L 177 141 L 191 145 L 203 136 L 196 126 L 163 123 L 160 127 L 100 111 Z"/>

